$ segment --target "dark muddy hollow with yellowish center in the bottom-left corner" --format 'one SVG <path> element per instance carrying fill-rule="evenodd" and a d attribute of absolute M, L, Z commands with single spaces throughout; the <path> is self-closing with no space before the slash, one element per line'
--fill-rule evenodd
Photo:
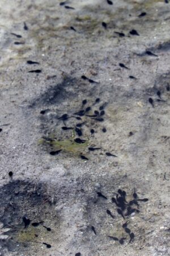
<path fill-rule="evenodd" d="M 52 243 L 52 236 L 49 233 L 54 233 L 54 227 L 59 231 L 60 221 L 54 206 L 50 203 L 45 184 L 16 180 L 0 189 L 0 198 L 0 222 L 3 224 L 1 233 L 4 232 L 3 235 L 5 234 L 7 238 L 0 239 L 2 251 L 5 252 L 6 249 L 12 253 L 31 251 L 33 255 L 36 251 L 40 253 L 42 248 L 45 248 L 42 242 Z M 23 217 L 30 220 L 26 228 Z M 44 222 L 40 225 L 32 225 L 33 222 L 41 221 Z M 46 229 L 51 227 L 52 223 L 53 228 Z"/>

